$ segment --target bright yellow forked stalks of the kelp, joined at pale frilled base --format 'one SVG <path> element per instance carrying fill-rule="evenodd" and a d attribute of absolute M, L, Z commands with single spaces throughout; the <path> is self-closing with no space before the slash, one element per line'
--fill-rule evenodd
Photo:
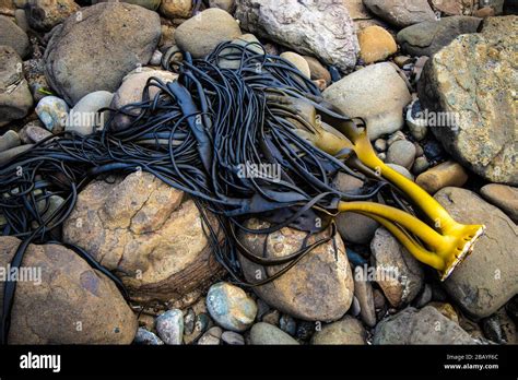
<path fill-rule="evenodd" d="M 339 211 L 357 212 L 377 221 L 417 260 L 438 270 L 440 278 L 446 280 L 472 251 L 474 241 L 484 233 L 485 227 L 457 223 L 425 190 L 385 165 L 377 157 L 363 121 L 345 121 L 323 114 L 322 118 L 327 118 L 325 121 L 343 135 L 342 146 L 339 146 L 338 134 L 331 133 L 330 138 L 330 127 L 323 128 L 318 122 L 314 124 L 317 132 L 310 139 L 316 146 L 334 155 L 341 149 L 352 150 L 365 167 L 400 189 L 421 209 L 427 221 L 425 223 L 404 211 L 374 202 L 340 202 Z"/>

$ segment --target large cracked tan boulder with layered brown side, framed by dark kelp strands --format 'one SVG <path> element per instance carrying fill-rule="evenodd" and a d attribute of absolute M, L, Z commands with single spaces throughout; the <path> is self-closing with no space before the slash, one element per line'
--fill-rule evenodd
<path fill-rule="evenodd" d="M 146 173 L 89 185 L 63 238 L 116 271 L 137 301 L 181 298 L 222 271 L 195 202 Z"/>

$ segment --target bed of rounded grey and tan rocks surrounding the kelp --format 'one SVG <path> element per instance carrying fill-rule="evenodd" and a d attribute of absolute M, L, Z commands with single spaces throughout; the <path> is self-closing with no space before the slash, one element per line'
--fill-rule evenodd
<path fill-rule="evenodd" d="M 94 131 L 99 108 L 139 100 L 150 76 L 175 80 L 160 62 L 177 48 L 203 57 L 259 39 L 365 118 L 381 159 L 487 230 L 440 283 L 376 222 L 345 213 L 338 256 L 321 246 L 250 290 L 229 283 L 180 191 L 144 174 L 94 181 L 62 237 L 115 271 L 131 305 L 74 252 L 31 246 L 24 265 L 44 269 L 42 284 L 19 284 L 10 343 L 518 343 L 516 2 L 210 0 L 197 14 L 187 0 L 93 2 L 0 0 L 0 165 L 63 129 Z M 362 182 L 341 174 L 335 186 Z M 290 254 L 303 236 L 283 228 L 269 251 Z M 240 239 L 261 254 L 258 236 Z M 0 237 L 2 266 L 17 242 Z M 267 271 L 242 264 L 248 278 Z M 377 268 L 398 275 L 369 277 Z"/>

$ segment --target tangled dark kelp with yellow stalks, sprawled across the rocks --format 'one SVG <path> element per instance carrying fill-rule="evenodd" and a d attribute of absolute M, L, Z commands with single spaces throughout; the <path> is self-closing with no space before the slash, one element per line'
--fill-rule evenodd
<path fill-rule="evenodd" d="M 289 61 L 266 54 L 260 44 L 221 44 L 205 59 L 169 51 L 162 64 L 178 73 L 178 80 L 165 83 L 151 78 L 142 100 L 111 109 L 103 130 L 85 136 L 69 132 L 50 136 L 0 166 L 0 230 L 22 240 L 12 268 L 21 265 L 30 244 L 62 244 L 125 292 L 120 281 L 87 252 L 60 242 L 56 227 L 70 215 L 78 193 L 89 182 L 136 170 L 192 197 L 217 261 L 239 284 L 272 281 L 315 247 L 332 240 L 333 216 L 341 211 L 375 218 L 443 275 L 480 235 L 479 229 L 470 229 L 468 238 L 462 235 L 469 244 L 461 246 L 460 233 L 450 239 L 449 231 L 458 226 L 473 226 L 452 224 L 446 212 L 420 203 L 424 191 L 372 157 L 363 120 L 349 118 L 326 103 L 309 79 Z M 120 128 L 122 118 L 129 120 L 127 128 Z M 255 168 L 251 175 L 248 168 Z M 257 168 L 278 170 L 274 176 L 258 175 Z M 332 185 L 339 171 L 364 180 L 364 187 L 339 191 Z M 49 213 L 52 195 L 64 202 Z M 438 215 L 444 222 L 435 223 L 439 231 L 413 216 L 415 204 L 432 223 Z M 216 226 L 209 222 L 211 215 Z M 268 221 L 270 227 L 246 228 L 245 221 L 252 216 Z M 239 231 L 270 234 L 285 226 L 307 233 L 303 247 L 289 257 L 259 258 L 237 239 Z M 327 228 L 332 230 L 330 237 L 307 244 L 311 235 Z M 454 246 L 460 247 L 456 259 L 450 258 Z M 238 253 L 261 265 L 286 265 L 249 284 L 242 277 Z M 7 282 L 3 343 L 14 292 L 15 283 Z"/>

